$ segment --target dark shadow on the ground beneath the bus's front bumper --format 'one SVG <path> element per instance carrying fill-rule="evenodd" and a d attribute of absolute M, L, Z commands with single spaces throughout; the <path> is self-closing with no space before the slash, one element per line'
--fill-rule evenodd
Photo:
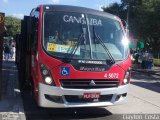
<path fill-rule="evenodd" d="M 27 120 L 75 120 L 75 119 L 102 119 L 112 115 L 105 108 L 68 108 L 68 109 L 53 109 L 40 108 L 36 106 L 31 98 L 29 91 L 22 92 L 24 112 Z"/>

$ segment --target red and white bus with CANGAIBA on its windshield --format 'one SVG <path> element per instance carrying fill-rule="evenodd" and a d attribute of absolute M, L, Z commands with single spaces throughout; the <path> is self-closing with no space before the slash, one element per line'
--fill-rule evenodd
<path fill-rule="evenodd" d="M 21 88 L 41 107 L 93 107 L 126 102 L 131 59 L 121 20 L 75 6 L 40 5 L 22 20 Z"/>

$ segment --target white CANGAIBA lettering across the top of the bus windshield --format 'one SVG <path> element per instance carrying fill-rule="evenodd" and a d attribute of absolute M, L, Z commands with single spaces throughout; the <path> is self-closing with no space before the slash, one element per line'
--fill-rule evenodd
<path fill-rule="evenodd" d="M 102 20 L 95 19 L 95 18 L 84 19 L 83 17 L 64 15 L 63 21 L 66 23 L 78 23 L 78 24 L 89 24 L 89 25 L 94 25 L 94 26 L 102 26 Z"/>

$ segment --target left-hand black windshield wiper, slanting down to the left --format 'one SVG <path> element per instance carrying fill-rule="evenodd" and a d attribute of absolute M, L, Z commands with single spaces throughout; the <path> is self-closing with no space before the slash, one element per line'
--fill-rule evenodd
<path fill-rule="evenodd" d="M 82 42 L 83 38 L 84 38 L 84 33 L 82 32 L 82 34 L 80 35 L 80 37 L 79 37 L 79 39 L 78 39 L 77 44 L 76 44 L 76 45 L 74 46 L 74 48 L 72 49 L 72 52 L 70 53 L 69 57 L 63 58 L 63 62 L 65 62 L 65 63 L 71 62 L 71 60 L 72 60 L 73 56 L 75 55 L 75 53 L 76 53 L 76 51 L 77 51 L 80 43 Z M 72 46 L 71 46 L 71 47 L 72 47 Z"/>

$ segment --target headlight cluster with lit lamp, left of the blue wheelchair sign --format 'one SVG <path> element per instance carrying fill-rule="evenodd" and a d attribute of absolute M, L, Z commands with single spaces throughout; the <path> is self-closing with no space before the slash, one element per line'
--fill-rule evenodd
<path fill-rule="evenodd" d="M 44 64 L 40 64 L 40 71 L 41 71 L 41 76 L 43 79 L 43 82 L 47 85 L 55 85 L 55 82 L 51 76 L 50 71 Z"/>

